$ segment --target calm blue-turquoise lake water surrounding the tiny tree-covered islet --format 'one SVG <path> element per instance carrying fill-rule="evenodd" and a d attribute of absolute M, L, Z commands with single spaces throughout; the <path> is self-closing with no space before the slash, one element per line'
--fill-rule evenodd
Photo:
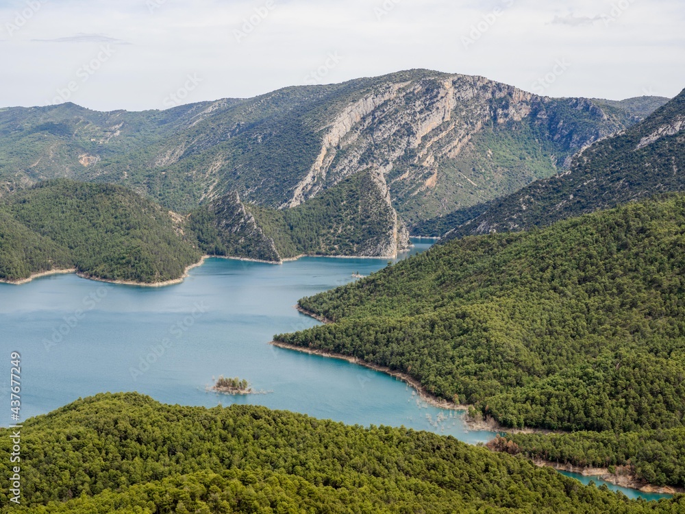
<path fill-rule="evenodd" d="M 423 252 L 432 241 L 414 241 Z M 406 257 L 406 256 L 403 256 Z M 295 310 L 301 297 L 366 276 L 387 259 L 303 258 L 282 266 L 209 259 L 182 283 L 159 289 L 114 286 L 75 275 L 0 284 L 0 407 L 9 419 L 9 360 L 21 353 L 21 419 L 79 397 L 138 391 L 164 403 L 212 407 L 260 404 L 346 424 L 406 426 L 486 442 L 463 413 L 421 402 L 385 374 L 343 360 L 282 350 L 273 335 L 319 324 Z M 219 376 L 245 378 L 264 394 L 206 391 Z M 627 495 L 643 498 L 632 489 Z M 650 498 L 650 499 L 653 499 Z"/>

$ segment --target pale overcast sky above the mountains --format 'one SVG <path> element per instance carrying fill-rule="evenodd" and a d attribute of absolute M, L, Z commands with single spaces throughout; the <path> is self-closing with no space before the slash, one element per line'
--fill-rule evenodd
<path fill-rule="evenodd" d="M 682 0 L 0 0 L 1 106 L 164 109 L 412 68 L 673 97 Z"/>

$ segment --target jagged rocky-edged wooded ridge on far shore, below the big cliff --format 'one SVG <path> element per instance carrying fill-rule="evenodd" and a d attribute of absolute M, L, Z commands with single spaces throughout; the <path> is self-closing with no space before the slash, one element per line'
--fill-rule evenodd
<path fill-rule="evenodd" d="M 382 175 L 369 171 L 284 210 L 227 195 L 192 212 L 188 226 L 207 254 L 271 262 L 302 255 L 395 257 L 410 244 Z"/>

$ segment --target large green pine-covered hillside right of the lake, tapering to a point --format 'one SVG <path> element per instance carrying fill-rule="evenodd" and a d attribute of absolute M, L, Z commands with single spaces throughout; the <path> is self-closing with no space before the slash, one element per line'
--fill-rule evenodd
<path fill-rule="evenodd" d="M 406 372 L 505 426 L 685 421 L 685 197 L 450 241 L 300 305 L 276 336 Z"/>

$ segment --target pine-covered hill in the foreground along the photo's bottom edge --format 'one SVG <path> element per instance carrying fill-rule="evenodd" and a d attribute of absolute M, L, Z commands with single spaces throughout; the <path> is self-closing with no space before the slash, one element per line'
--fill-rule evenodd
<path fill-rule="evenodd" d="M 259 406 L 78 400 L 22 429 L 22 506 L 3 513 L 671 513 L 522 458 L 404 428 Z M 8 429 L 0 469 L 11 476 Z"/>

